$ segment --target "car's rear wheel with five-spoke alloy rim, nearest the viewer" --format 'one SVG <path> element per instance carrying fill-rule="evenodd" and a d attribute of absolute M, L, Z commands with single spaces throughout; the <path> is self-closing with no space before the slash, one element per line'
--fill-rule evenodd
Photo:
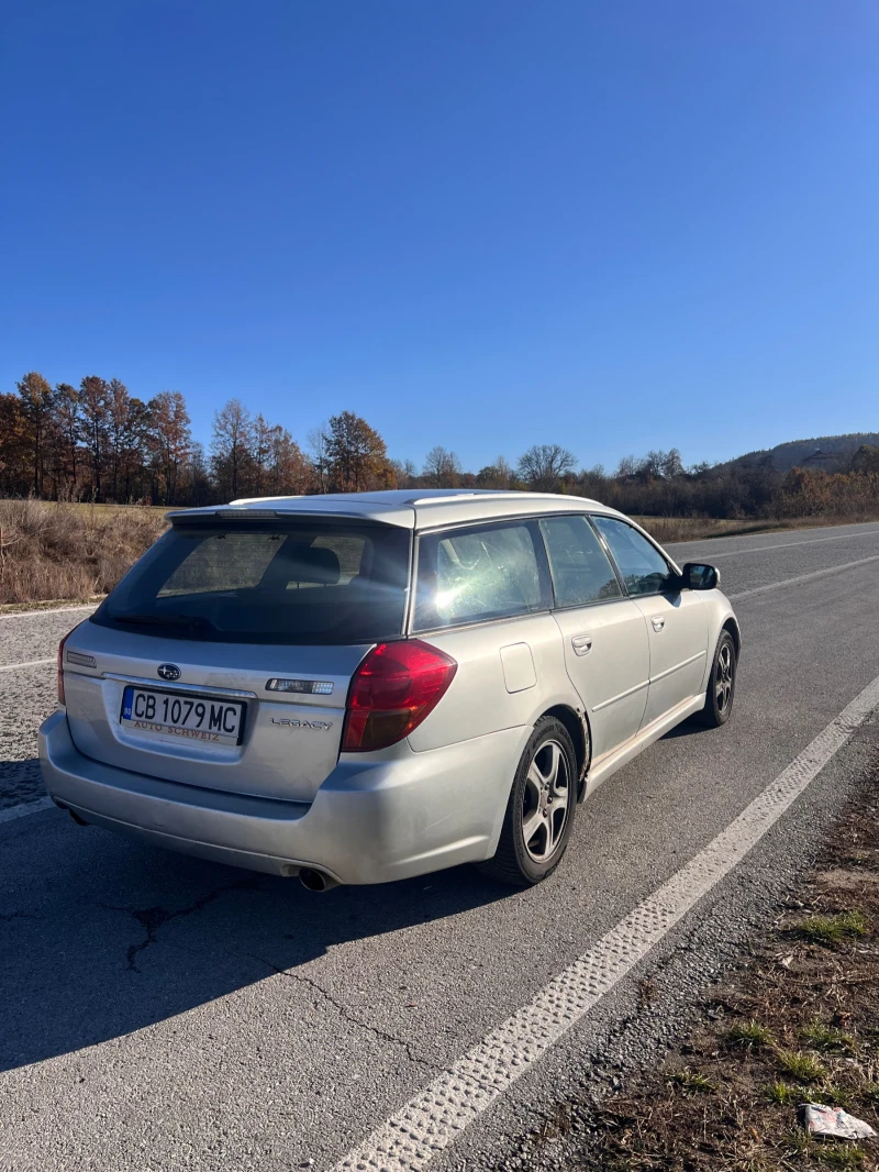
<path fill-rule="evenodd" d="M 478 864 L 512 887 L 551 875 L 567 850 L 577 810 L 577 754 L 561 721 L 541 716 L 513 778 L 497 852 Z"/>

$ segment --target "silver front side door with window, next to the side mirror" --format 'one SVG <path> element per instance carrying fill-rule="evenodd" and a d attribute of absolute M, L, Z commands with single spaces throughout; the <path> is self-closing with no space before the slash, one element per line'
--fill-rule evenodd
<path fill-rule="evenodd" d="M 647 625 L 650 687 L 642 723 L 649 724 L 702 690 L 708 647 L 704 602 L 697 593 L 680 590 L 666 557 L 634 525 L 615 517 L 593 519 Z"/>

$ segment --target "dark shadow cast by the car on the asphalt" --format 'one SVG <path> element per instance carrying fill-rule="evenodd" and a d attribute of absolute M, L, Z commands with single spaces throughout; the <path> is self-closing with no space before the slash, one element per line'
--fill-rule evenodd
<path fill-rule="evenodd" d="M 313 894 L 295 879 L 80 827 L 61 811 L 0 826 L 0 1070 L 295 975 L 336 945 L 511 894 L 471 867 Z M 406 965 L 406 934 L 396 947 Z"/>

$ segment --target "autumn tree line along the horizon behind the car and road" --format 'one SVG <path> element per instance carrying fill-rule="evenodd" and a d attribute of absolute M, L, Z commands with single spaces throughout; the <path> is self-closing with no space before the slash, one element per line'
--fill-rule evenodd
<path fill-rule="evenodd" d="M 866 516 L 879 511 L 879 448 L 834 472 L 765 462 L 683 465 L 676 448 L 626 456 L 613 471 L 581 468 L 560 444 L 534 444 L 478 471 L 434 447 L 417 468 L 389 457 L 381 435 L 341 411 L 300 444 L 239 398 L 213 417 L 210 448 L 192 440 L 184 396 L 143 401 L 118 379 L 54 387 L 26 374 L 0 393 L 0 496 L 117 504 L 204 505 L 237 497 L 377 489 L 481 488 L 567 492 L 624 512 L 666 517 Z"/>

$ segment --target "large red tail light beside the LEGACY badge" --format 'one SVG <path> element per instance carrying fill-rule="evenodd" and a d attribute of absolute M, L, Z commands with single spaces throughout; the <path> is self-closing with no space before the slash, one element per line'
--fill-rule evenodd
<path fill-rule="evenodd" d="M 402 741 L 436 708 L 457 669 L 451 656 L 418 639 L 379 643 L 352 679 L 342 751 Z"/>

